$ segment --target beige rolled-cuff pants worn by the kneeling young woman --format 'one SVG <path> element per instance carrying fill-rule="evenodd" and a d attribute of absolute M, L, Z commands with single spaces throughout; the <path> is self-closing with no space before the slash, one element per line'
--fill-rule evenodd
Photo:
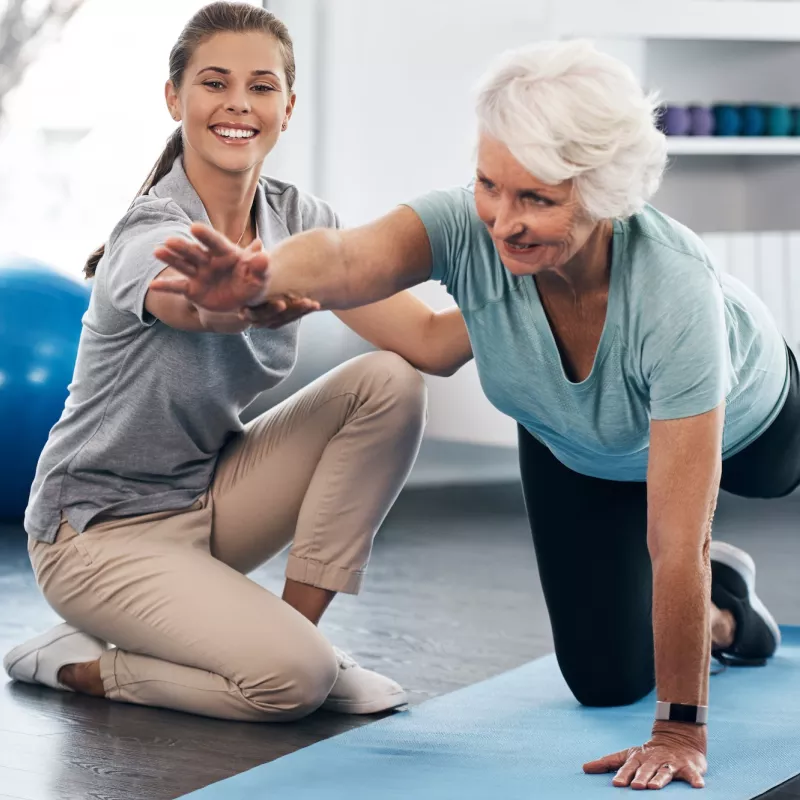
<path fill-rule="evenodd" d="M 425 413 L 416 370 L 361 356 L 253 420 L 191 508 L 32 540 L 50 605 L 116 645 L 100 659 L 107 697 L 254 721 L 318 708 L 337 676 L 331 646 L 245 574 L 291 543 L 287 577 L 357 593 Z"/>

